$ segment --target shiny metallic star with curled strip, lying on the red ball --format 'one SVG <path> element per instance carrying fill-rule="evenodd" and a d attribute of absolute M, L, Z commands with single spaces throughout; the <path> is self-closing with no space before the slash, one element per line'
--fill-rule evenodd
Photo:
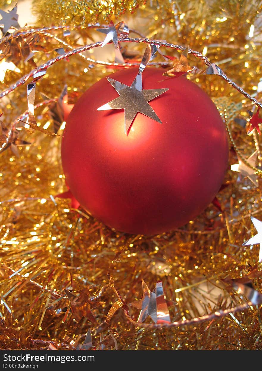
<path fill-rule="evenodd" d="M 125 85 L 119 81 L 107 77 L 108 81 L 111 83 L 111 85 L 115 88 L 120 96 L 99 107 L 97 110 L 103 111 L 106 109 L 124 108 L 125 133 L 127 134 L 138 112 L 162 124 L 161 120 L 152 109 L 150 104 L 148 104 L 148 102 L 166 92 L 168 88 L 145 90 L 142 89 L 142 71 L 144 70 L 145 66 L 148 64 L 152 56 L 155 54 L 157 49 L 158 47 L 155 45 L 147 46 L 144 57 L 140 64 L 139 72 L 132 82 L 131 86 Z"/>

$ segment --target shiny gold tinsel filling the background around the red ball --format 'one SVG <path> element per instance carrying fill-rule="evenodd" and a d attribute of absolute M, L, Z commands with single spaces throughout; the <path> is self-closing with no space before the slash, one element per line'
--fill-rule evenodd
<path fill-rule="evenodd" d="M 5 10 L 14 5 L 10 1 L 1 2 Z M 51 36 L 37 33 L 32 49 L 38 53 L 33 62 L 20 60 L 16 63 L 20 72 L 7 70 L 1 91 L 30 73 L 35 65 L 55 58 L 55 49 L 67 49 L 58 39 L 74 48 L 90 44 L 97 37 L 101 40 L 101 34 L 88 29 L 88 23 L 106 24 L 118 19 L 117 22 L 124 20 L 144 37 L 167 40 L 203 53 L 259 101 L 261 6 L 261 1 L 247 0 L 212 3 L 35 0 L 37 27 L 66 25 L 71 28 L 71 35 L 63 37 L 63 30 L 51 30 Z M 249 37 L 251 25 L 254 33 Z M 121 43 L 121 47 L 139 60 L 145 45 Z M 179 56 L 179 52 L 165 47 L 161 51 Z M 87 52 L 86 56 L 95 59 L 95 52 Z M 108 48 L 104 58 L 112 58 L 110 53 Z M 190 65 L 201 68 L 201 61 L 191 55 L 188 59 Z M 11 60 L 13 54 L 9 55 Z M 160 54 L 156 60 L 163 61 Z M 105 65 L 87 68 L 84 58 L 71 56 L 48 68 L 46 76 L 37 83 L 35 102 L 42 102 L 43 94 L 59 97 L 67 84 L 69 102 L 74 103 L 88 86 L 110 72 L 112 69 Z M 247 110 L 253 110 L 251 102 L 219 76 L 193 75 L 192 79 L 209 93 L 221 112 L 226 110 L 231 137 L 239 153 L 248 158 L 253 151 L 260 150 L 261 138 L 246 135 L 246 129 L 234 121 L 249 117 Z M 6 95 L 0 101 L 0 109 L 1 120 L 9 128 L 27 110 L 25 85 Z M 48 106 L 37 108 L 35 114 L 41 127 L 50 121 L 48 129 L 54 131 Z M 157 280 L 162 280 L 166 297 L 177 302 L 169 309 L 171 321 L 183 321 L 245 303 L 245 297 L 228 289 L 225 279 L 246 277 L 262 292 L 259 246 L 252 249 L 242 246 L 256 233 L 251 214 L 262 220 L 261 178 L 258 176 L 258 187 L 246 178 L 239 181 L 238 174 L 230 170 L 230 165 L 238 162 L 233 150 L 224 179 L 226 187 L 217 195 L 221 210 L 211 204 L 180 229 L 157 236 L 134 236 L 107 228 L 83 209 L 72 209 L 68 199 L 54 198 L 67 190 L 60 160 L 60 137 L 51 138 L 27 129 L 18 135 L 31 145 L 18 146 L 19 157 L 11 147 L 0 153 L 2 349 L 46 349 L 50 344 L 57 349 L 75 349 L 83 343 L 88 329 L 93 349 L 262 349 L 261 306 L 249 306 L 235 313 L 228 311 L 221 318 L 194 325 L 139 329 L 127 320 L 117 294 L 118 290 L 135 321 L 139 312 L 128 304 L 142 298 L 142 279 L 151 290 Z M 74 313 L 56 312 L 70 306 L 64 289 L 76 294 L 88 290 L 91 306 L 95 300 L 105 302 L 92 309 L 97 323 L 86 318 L 77 321 Z M 114 313 L 108 325 L 107 314 L 118 300 L 122 308 Z M 145 323 L 152 321 L 148 318 Z"/>

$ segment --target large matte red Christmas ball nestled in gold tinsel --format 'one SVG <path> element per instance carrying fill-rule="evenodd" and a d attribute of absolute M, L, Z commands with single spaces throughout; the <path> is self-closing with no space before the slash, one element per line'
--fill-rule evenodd
<path fill-rule="evenodd" d="M 110 77 L 131 85 L 138 68 Z M 194 219 L 214 199 L 228 165 L 224 123 L 209 96 L 185 76 L 147 67 L 143 89 L 169 88 L 138 113 L 128 135 L 124 109 L 98 111 L 119 95 L 103 78 L 68 116 L 61 146 L 65 179 L 81 206 L 107 226 L 157 234 Z"/>

